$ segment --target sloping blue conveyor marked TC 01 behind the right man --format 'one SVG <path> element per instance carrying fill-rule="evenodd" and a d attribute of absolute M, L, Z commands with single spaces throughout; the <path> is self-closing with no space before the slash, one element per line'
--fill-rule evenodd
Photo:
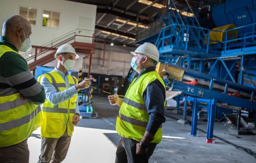
<path fill-rule="evenodd" d="M 169 65 L 171 67 L 184 70 L 181 76 L 181 81 L 172 79 L 168 85 L 174 91 L 181 91 L 190 96 L 214 99 L 221 103 L 227 103 L 231 106 L 247 108 L 256 111 L 256 103 L 253 102 L 255 98 L 256 89 L 240 85 L 235 82 L 225 80 L 222 78 L 213 77 L 205 73 L 187 69 L 177 65 Z M 172 72 L 169 72 L 172 76 Z M 186 84 L 183 81 L 197 79 L 198 85 Z M 239 91 L 242 98 L 228 95 L 230 92 Z"/>

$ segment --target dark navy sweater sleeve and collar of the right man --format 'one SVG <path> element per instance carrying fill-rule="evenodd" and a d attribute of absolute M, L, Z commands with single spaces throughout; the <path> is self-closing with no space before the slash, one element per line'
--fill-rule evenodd
<path fill-rule="evenodd" d="M 137 74 L 135 82 L 148 72 L 155 71 L 156 66 L 147 67 Z M 135 83 L 134 82 L 134 83 Z M 165 122 L 164 118 L 164 100 L 165 88 L 159 80 L 151 82 L 143 92 L 143 99 L 148 109 L 149 121 L 146 131 L 155 135 L 158 128 Z"/>

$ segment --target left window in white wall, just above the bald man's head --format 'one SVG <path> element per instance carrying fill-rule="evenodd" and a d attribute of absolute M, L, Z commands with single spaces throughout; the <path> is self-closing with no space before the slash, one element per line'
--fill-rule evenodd
<path fill-rule="evenodd" d="M 30 24 L 36 25 L 36 9 L 31 7 L 20 7 L 20 16 L 27 19 Z"/>

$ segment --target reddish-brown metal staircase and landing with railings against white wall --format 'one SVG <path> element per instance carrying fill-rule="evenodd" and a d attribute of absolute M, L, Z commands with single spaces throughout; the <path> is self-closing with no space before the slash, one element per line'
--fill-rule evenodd
<path fill-rule="evenodd" d="M 75 29 L 42 46 L 32 46 L 28 52 L 22 54 L 28 63 L 29 70 L 35 72 L 36 66 L 53 61 L 56 50 L 63 44 L 71 44 L 78 53 L 84 53 L 87 56 L 92 55 L 94 52 L 94 31 Z"/>

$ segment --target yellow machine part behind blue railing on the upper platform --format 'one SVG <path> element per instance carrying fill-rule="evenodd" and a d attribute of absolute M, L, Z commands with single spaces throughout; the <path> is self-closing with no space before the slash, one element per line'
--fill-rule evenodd
<path fill-rule="evenodd" d="M 225 25 L 225 26 L 219 26 L 219 27 L 215 27 L 213 28 L 212 30 L 215 30 L 215 31 L 227 31 L 229 29 L 234 29 L 236 28 L 236 26 L 234 24 L 228 24 L 228 25 Z M 209 40 L 214 40 L 214 41 L 224 41 L 225 40 L 225 33 L 223 32 L 215 32 L 215 31 L 210 31 L 210 38 Z M 232 30 L 232 31 L 229 31 L 228 32 L 228 40 L 230 39 L 236 39 L 237 38 L 237 34 L 238 34 L 238 31 L 237 30 Z M 233 37 L 231 37 L 233 36 Z M 214 41 L 209 41 L 209 44 L 217 44 L 218 42 L 214 42 Z M 232 41 L 230 43 L 233 43 L 233 42 L 237 42 L 237 41 Z M 206 44 L 207 43 L 207 37 L 205 37 L 205 41 L 204 43 Z"/>

